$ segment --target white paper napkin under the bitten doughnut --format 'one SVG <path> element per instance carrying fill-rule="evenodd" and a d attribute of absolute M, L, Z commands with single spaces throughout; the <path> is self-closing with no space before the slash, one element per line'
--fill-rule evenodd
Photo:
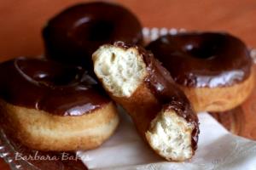
<path fill-rule="evenodd" d="M 78 151 L 90 169 L 246 169 L 256 170 L 256 142 L 229 133 L 212 116 L 199 114 L 198 149 L 191 161 L 170 162 L 143 143 L 124 111 L 117 132 L 96 150 Z"/>

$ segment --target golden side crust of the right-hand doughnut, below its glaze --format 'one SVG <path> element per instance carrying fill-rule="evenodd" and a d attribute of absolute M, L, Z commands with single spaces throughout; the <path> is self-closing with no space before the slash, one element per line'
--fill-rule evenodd
<path fill-rule="evenodd" d="M 250 76 L 243 82 L 230 87 L 218 88 L 189 88 L 179 85 L 186 94 L 196 112 L 200 111 L 229 111 L 241 105 L 251 94 L 255 71 L 252 67 Z"/>

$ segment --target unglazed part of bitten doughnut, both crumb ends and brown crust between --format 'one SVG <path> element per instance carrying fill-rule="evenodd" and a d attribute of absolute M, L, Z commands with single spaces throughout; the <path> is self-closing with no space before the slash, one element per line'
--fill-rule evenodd
<path fill-rule="evenodd" d="M 194 155 L 194 127 L 175 111 L 157 112 L 161 106 L 144 82 L 148 71 L 137 48 L 103 45 L 92 59 L 103 88 L 128 111 L 138 132 L 156 153 L 168 161 L 184 161 Z"/>

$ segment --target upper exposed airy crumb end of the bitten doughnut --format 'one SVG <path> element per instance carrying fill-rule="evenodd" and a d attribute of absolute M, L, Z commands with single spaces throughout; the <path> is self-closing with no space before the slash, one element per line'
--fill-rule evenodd
<path fill-rule="evenodd" d="M 92 55 L 96 76 L 113 96 L 130 97 L 147 75 L 137 48 L 103 45 Z"/>

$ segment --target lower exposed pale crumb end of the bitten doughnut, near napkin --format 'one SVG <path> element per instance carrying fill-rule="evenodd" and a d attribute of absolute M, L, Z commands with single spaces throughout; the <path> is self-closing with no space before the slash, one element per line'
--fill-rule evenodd
<path fill-rule="evenodd" d="M 169 161 L 183 161 L 193 156 L 191 133 L 194 125 L 175 111 L 160 111 L 151 122 L 146 139 L 150 146 Z"/>

